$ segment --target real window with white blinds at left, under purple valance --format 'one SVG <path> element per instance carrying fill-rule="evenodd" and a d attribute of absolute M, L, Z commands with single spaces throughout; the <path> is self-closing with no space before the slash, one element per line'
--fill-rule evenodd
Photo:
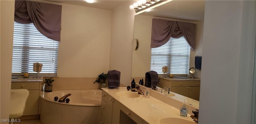
<path fill-rule="evenodd" d="M 36 73 L 33 63 L 42 63 L 44 74 L 57 74 L 58 41 L 42 35 L 34 24 L 14 22 L 12 73 Z"/>

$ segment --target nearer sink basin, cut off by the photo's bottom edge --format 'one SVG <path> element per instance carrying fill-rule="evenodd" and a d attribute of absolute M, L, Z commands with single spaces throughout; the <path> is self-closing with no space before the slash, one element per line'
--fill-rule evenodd
<path fill-rule="evenodd" d="M 196 122 L 182 118 L 163 118 L 160 120 L 160 124 L 196 124 Z"/>

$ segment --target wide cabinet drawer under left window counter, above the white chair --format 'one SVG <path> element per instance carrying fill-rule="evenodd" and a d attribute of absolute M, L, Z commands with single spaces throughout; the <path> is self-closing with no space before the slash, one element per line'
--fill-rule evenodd
<path fill-rule="evenodd" d="M 39 90 L 40 82 L 13 82 L 11 89 Z"/>

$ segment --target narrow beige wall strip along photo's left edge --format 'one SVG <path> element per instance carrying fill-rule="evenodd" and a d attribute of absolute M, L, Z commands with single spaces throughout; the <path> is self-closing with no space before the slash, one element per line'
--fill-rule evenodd
<path fill-rule="evenodd" d="M 0 44 L 0 108 L 1 119 L 9 118 L 10 110 L 10 89 L 12 73 L 12 41 L 13 41 L 13 23 L 14 23 L 14 1 L 0 0 L 1 10 L 1 44 Z M 4 124 L 4 123 L 1 123 Z M 8 124 L 8 123 L 6 123 Z"/>

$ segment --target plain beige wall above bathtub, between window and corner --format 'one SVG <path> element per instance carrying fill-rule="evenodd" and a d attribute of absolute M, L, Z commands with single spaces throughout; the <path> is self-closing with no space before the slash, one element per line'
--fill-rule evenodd
<path fill-rule="evenodd" d="M 97 77 L 107 73 L 111 11 L 62 5 L 58 77 Z"/>

